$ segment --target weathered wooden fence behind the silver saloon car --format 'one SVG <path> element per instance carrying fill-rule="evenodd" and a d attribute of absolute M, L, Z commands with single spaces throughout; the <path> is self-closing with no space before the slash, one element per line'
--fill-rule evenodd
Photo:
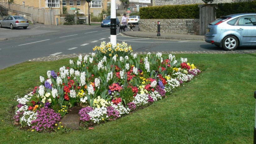
<path fill-rule="evenodd" d="M 55 13 L 56 10 L 45 10 L 34 7 L 19 5 L 19 4 L 8 4 L 0 2 L 0 11 L 6 15 L 19 15 L 23 16 L 31 22 L 44 23 L 44 24 L 55 24 Z"/>

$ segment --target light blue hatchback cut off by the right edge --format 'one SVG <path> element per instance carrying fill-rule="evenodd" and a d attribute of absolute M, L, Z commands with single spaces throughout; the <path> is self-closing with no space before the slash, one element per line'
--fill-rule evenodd
<path fill-rule="evenodd" d="M 204 40 L 225 50 L 256 46 L 256 13 L 222 16 L 206 28 Z"/>

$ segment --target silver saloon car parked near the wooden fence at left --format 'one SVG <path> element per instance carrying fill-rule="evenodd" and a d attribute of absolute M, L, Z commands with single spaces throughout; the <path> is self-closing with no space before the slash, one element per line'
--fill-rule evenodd
<path fill-rule="evenodd" d="M 27 29 L 29 21 L 21 16 L 7 16 L 0 20 L 0 28 L 9 27 L 11 29 L 22 27 Z"/>

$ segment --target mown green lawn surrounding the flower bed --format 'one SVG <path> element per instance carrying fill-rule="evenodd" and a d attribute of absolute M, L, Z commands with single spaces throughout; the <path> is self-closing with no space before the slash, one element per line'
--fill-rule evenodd
<path fill-rule="evenodd" d="M 25 62 L 0 70 L 0 143 L 253 143 L 256 54 L 175 54 L 202 70 L 167 98 L 96 126 L 71 133 L 35 133 L 13 124 L 16 95 L 23 96 L 47 70 L 69 59 Z"/>

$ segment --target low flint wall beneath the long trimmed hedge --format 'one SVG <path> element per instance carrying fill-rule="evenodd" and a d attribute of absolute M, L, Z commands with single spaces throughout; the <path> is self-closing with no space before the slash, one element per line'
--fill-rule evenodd
<path fill-rule="evenodd" d="M 161 33 L 199 35 L 199 19 L 140 19 L 139 31 L 157 32 L 158 21 Z"/>

